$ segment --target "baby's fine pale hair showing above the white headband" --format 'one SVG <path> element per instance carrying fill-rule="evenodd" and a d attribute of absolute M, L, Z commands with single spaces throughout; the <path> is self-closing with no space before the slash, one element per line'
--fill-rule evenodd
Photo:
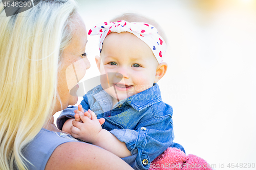
<path fill-rule="evenodd" d="M 149 23 L 152 26 L 155 26 L 155 28 L 158 31 L 158 34 L 164 39 L 164 41 L 167 43 L 167 38 L 166 35 L 163 31 L 163 29 L 160 27 L 160 25 L 153 19 L 150 19 L 146 16 L 143 16 L 141 14 L 138 13 L 124 13 L 121 15 L 118 15 L 116 17 L 114 17 L 113 19 L 111 19 L 111 22 L 116 22 L 118 20 L 126 20 L 128 22 L 145 22 L 145 23 Z"/>

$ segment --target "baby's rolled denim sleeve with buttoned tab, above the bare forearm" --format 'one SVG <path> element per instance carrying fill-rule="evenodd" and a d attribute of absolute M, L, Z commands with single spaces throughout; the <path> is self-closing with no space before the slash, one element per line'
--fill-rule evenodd
<path fill-rule="evenodd" d="M 113 129 L 109 131 L 125 142 L 132 156 L 123 158 L 134 169 L 148 169 L 150 163 L 168 147 L 173 146 L 173 124 L 170 115 L 141 120 L 136 129 Z"/>

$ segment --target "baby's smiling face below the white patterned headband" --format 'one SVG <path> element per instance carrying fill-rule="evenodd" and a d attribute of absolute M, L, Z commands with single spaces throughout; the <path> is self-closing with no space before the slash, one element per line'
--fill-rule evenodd
<path fill-rule="evenodd" d="M 146 43 L 135 35 L 112 32 L 101 51 L 100 72 L 108 74 L 108 86 L 101 85 L 114 99 L 123 100 L 153 86 L 158 62 Z M 156 83 L 156 82 L 155 82 Z M 115 89 L 114 89 L 114 88 Z"/>

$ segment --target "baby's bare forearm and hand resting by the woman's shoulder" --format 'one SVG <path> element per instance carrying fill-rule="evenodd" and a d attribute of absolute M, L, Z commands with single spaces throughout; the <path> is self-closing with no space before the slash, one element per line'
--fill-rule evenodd
<path fill-rule="evenodd" d="M 126 148 L 125 143 L 119 141 L 109 131 L 102 129 L 95 113 L 91 110 L 88 110 L 88 112 L 91 115 L 91 119 L 88 116 L 85 116 L 82 112 L 77 111 L 76 115 L 80 116 L 83 123 L 75 120 L 72 121 L 72 136 L 95 144 L 98 147 L 112 152 L 120 158 L 131 156 L 131 152 Z"/>

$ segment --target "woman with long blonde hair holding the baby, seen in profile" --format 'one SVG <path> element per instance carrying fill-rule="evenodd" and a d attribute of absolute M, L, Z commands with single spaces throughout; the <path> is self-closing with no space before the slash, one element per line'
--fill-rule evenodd
<path fill-rule="evenodd" d="M 132 169 L 53 124 L 90 67 L 75 2 L 40 1 L 9 17 L 1 3 L 0 18 L 0 169 Z"/>

